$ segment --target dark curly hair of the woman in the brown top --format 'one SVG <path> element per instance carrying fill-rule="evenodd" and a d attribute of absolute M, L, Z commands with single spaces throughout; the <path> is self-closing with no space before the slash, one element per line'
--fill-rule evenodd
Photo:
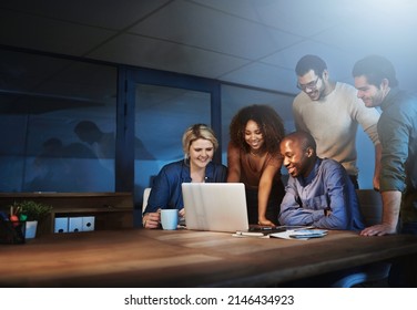
<path fill-rule="evenodd" d="M 251 120 L 260 126 L 265 151 L 271 154 L 279 152 L 279 143 L 285 135 L 284 123 L 273 107 L 264 104 L 250 105 L 237 112 L 228 127 L 231 143 L 246 153 L 251 151 L 245 142 L 245 128 Z"/>

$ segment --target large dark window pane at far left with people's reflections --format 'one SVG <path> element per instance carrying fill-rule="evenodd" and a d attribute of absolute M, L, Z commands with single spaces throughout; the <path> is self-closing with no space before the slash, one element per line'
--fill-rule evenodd
<path fill-rule="evenodd" d="M 0 50 L 0 192 L 114 192 L 115 68 Z"/>

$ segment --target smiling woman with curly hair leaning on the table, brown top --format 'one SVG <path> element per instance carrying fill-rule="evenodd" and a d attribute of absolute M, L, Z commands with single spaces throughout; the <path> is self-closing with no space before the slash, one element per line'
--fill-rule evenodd
<path fill-rule="evenodd" d="M 245 184 L 250 224 L 275 226 L 284 197 L 281 116 L 268 105 L 243 107 L 230 125 L 227 182 Z"/>

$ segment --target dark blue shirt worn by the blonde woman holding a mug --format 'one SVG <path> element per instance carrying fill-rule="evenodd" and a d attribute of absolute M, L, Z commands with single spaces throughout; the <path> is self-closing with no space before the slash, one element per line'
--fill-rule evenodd
<path fill-rule="evenodd" d="M 220 164 L 208 163 L 205 167 L 206 183 L 225 183 L 227 179 L 227 167 Z M 144 213 L 154 213 L 161 209 L 182 209 L 182 183 L 191 183 L 190 166 L 179 161 L 162 167 L 153 180 L 152 190 L 148 199 Z"/>

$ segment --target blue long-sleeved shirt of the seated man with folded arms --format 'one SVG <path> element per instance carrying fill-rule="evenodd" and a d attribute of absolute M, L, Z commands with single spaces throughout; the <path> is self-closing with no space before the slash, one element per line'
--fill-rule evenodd
<path fill-rule="evenodd" d="M 325 216 L 325 209 L 332 214 Z M 307 178 L 289 176 L 281 204 L 279 223 L 327 229 L 363 229 L 357 195 L 345 168 L 334 159 L 317 158 Z"/>

